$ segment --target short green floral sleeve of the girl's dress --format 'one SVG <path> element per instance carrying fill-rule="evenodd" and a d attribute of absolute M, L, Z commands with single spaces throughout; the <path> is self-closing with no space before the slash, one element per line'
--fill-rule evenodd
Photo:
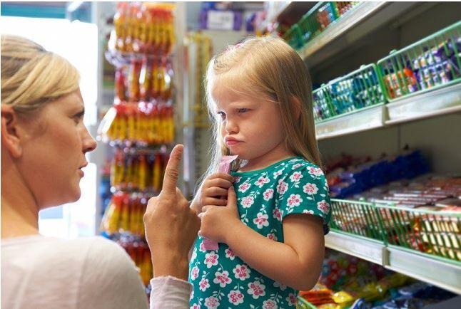
<path fill-rule="evenodd" d="M 324 234 L 330 222 L 330 194 L 322 169 L 313 164 L 295 164 L 278 181 L 278 209 L 282 219 L 290 214 L 310 214 L 323 219 Z"/>

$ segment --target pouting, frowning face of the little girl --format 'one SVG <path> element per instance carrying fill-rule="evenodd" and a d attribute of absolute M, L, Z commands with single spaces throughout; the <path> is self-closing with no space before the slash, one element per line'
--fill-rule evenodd
<path fill-rule="evenodd" d="M 258 167 L 286 157 L 278 103 L 229 90 L 214 91 L 213 98 L 221 119 L 221 137 L 233 155 Z"/>

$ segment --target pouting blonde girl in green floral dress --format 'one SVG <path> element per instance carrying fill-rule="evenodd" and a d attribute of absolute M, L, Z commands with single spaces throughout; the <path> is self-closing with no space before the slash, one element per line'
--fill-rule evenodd
<path fill-rule="evenodd" d="M 216 145 L 192 204 L 191 308 L 294 306 L 318 280 L 330 220 L 308 70 L 280 38 L 249 38 L 206 79 Z M 223 155 L 238 155 L 231 175 L 215 173 Z"/>

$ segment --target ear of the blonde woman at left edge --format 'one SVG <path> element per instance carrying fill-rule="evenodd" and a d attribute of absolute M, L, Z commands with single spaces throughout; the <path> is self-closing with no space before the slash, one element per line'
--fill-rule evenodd
<path fill-rule="evenodd" d="M 11 105 L 1 105 L 1 147 L 5 147 L 11 157 L 22 155 L 19 138 L 18 116 Z"/>

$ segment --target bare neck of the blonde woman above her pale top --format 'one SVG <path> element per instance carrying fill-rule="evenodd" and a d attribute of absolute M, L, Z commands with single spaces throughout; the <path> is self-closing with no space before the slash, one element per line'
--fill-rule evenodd
<path fill-rule="evenodd" d="M 3 159 L 3 158 L 2 158 Z M 3 164 L 1 239 L 39 234 L 39 207 L 16 167 Z"/>

